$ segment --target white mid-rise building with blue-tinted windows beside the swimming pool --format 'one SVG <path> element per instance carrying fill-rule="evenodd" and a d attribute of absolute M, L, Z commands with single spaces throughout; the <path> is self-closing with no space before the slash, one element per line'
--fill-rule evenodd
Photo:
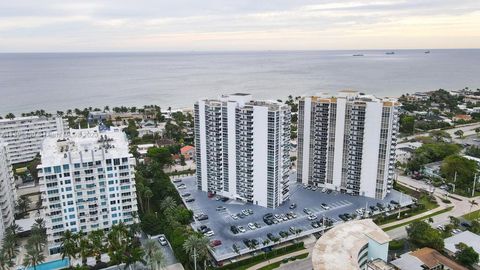
<path fill-rule="evenodd" d="M 51 254 L 60 251 L 65 230 L 137 222 L 134 166 L 120 129 L 70 130 L 64 138 L 44 140 L 38 169 Z"/>

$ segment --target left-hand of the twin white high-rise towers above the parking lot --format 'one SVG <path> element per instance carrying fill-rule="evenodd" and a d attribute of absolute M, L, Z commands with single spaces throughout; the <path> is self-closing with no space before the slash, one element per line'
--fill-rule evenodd
<path fill-rule="evenodd" d="M 275 208 L 289 197 L 290 108 L 249 94 L 195 104 L 198 189 Z"/>

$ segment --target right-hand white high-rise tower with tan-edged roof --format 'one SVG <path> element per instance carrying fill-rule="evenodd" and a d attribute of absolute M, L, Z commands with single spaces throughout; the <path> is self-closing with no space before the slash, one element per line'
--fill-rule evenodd
<path fill-rule="evenodd" d="M 398 106 L 355 91 L 303 97 L 297 180 L 383 199 L 392 188 Z"/>

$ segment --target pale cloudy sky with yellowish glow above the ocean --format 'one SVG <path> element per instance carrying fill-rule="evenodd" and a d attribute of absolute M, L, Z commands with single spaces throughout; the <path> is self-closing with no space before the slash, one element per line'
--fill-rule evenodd
<path fill-rule="evenodd" d="M 1 0 L 0 52 L 480 48 L 480 0 Z"/>

